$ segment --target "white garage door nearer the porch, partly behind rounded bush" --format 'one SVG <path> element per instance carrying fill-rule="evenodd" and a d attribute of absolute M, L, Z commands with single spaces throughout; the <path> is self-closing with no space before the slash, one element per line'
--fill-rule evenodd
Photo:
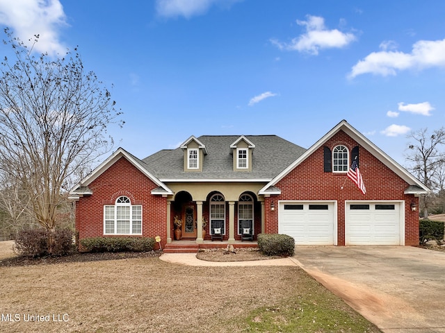
<path fill-rule="evenodd" d="M 297 245 L 334 244 L 334 204 L 280 202 L 278 232 Z"/>

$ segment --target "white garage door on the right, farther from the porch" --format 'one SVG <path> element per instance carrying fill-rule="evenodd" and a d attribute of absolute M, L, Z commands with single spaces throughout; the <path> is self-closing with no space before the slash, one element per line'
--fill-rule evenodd
<path fill-rule="evenodd" d="M 400 202 L 346 204 L 346 245 L 401 245 Z"/>

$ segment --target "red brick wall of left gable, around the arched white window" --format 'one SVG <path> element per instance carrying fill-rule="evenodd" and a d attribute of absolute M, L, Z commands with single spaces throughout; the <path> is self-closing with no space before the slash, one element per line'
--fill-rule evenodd
<path fill-rule="evenodd" d="M 125 195 L 130 198 L 131 204 L 142 205 L 142 237 L 160 236 L 161 244 L 166 243 L 166 198 L 152 195 L 151 191 L 157 185 L 127 159 L 121 157 L 88 187 L 92 190 L 92 195 L 84 196 L 76 202 L 76 230 L 79 232 L 79 239 L 105 237 L 104 205 L 113 205 L 118 196 Z"/>

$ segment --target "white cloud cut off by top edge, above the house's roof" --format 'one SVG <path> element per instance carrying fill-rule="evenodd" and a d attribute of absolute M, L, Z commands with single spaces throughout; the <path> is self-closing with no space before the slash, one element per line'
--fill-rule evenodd
<path fill-rule="evenodd" d="M 156 0 L 156 12 L 162 17 L 203 15 L 213 5 L 230 7 L 240 0 Z"/>

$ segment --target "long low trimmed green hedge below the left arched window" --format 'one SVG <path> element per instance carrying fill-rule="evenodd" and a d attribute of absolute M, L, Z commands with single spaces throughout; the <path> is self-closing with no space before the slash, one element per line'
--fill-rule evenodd
<path fill-rule="evenodd" d="M 147 252 L 153 250 L 155 243 L 152 237 L 93 237 L 80 240 L 87 252 Z"/>

